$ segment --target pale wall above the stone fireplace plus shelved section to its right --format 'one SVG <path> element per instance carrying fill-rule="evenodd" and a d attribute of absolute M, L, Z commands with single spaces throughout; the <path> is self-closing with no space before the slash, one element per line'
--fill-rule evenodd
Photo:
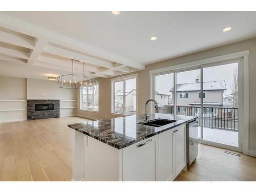
<path fill-rule="evenodd" d="M 76 90 L 61 89 L 57 81 L 27 79 L 27 96 L 28 99 L 59 99 L 60 117 L 76 114 L 76 108 L 69 108 L 76 106 Z"/>

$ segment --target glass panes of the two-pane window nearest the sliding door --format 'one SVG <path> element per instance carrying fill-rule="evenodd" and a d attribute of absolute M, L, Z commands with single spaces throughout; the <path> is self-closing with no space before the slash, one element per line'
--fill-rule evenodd
<path fill-rule="evenodd" d="M 112 80 L 112 113 L 136 114 L 137 76 Z"/>

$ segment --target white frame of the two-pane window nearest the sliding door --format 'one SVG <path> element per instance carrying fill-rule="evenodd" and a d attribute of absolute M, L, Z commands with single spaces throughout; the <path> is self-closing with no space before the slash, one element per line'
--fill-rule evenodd
<path fill-rule="evenodd" d="M 126 103 L 126 96 L 125 96 L 125 80 L 134 79 L 136 78 L 136 114 L 127 113 L 125 112 L 125 103 Z M 115 112 L 115 82 L 123 81 L 123 112 Z M 138 113 L 138 74 L 126 75 L 117 78 L 111 79 L 111 114 L 112 115 L 137 115 Z"/>

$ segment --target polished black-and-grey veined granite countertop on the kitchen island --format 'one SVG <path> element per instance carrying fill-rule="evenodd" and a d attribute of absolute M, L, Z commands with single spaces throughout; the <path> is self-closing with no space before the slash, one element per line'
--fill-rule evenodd
<path fill-rule="evenodd" d="M 148 117 L 148 120 L 153 119 L 170 119 L 177 121 L 160 127 L 155 127 L 138 124 L 138 122 L 144 121 L 144 116 L 133 115 L 106 120 L 74 123 L 69 124 L 68 126 L 120 150 L 121 148 L 146 138 L 173 129 L 181 124 L 193 121 L 194 119 L 197 119 L 197 117 L 156 113 L 150 114 Z"/>

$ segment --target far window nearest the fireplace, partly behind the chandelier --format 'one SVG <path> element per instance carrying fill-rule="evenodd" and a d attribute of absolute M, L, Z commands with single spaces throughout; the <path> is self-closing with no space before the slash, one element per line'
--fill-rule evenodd
<path fill-rule="evenodd" d="M 94 90 L 91 88 L 80 89 L 80 109 L 99 111 L 99 84 L 96 84 Z"/>

